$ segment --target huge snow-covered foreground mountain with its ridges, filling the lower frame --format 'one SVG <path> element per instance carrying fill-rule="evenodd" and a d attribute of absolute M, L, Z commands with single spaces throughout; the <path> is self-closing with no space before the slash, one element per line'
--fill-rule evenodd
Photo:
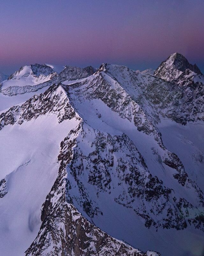
<path fill-rule="evenodd" d="M 4 256 L 199 256 L 202 81 L 189 68 L 165 81 L 106 63 L 66 67 L 2 111 Z"/>

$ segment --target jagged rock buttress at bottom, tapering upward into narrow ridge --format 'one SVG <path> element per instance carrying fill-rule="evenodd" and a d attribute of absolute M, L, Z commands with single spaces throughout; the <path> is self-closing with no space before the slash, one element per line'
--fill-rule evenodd
<path fill-rule="evenodd" d="M 87 221 L 69 203 L 66 165 L 71 162 L 80 126 L 61 143 L 59 175 L 42 208 L 42 225 L 25 255 L 132 255 L 146 256 L 128 244 L 109 236 Z M 57 195 L 57 196 L 56 196 Z M 150 253 L 150 252 L 147 252 Z M 157 256 L 159 254 L 154 253 Z"/>

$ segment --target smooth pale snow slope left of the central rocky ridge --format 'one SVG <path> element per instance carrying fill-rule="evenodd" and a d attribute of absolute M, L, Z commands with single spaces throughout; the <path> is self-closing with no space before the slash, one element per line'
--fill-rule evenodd
<path fill-rule="evenodd" d="M 78 122 L 72 118 L 59 124 L 56 113 L 0 132 L 0 180 L 6 184 L 0 198 L 3 255 L 23 255 L 40 228 L 40 208 L 57 177 L 60 142 Z"/>

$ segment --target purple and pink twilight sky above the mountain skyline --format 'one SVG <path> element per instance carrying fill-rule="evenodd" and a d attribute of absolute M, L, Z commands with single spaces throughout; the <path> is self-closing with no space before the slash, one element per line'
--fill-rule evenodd
<path fill-rule="evenodd" d="M 157 68 L 182 53 L 204 72 L 203 0 L 1 0 L 0 71 L 50 63 Z"/>

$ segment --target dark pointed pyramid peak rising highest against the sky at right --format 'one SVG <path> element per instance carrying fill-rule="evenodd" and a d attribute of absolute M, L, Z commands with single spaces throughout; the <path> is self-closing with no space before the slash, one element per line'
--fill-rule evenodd
<path fill-rule="evenodd" d="M 175 52 L 159 65 L 154 75 L 166 81 L 172 81 L 177 79 L 186 69 L 190 69 L 198 75 L 202 75 L 196 64 L 190 64 L 182 54 Z"/>

